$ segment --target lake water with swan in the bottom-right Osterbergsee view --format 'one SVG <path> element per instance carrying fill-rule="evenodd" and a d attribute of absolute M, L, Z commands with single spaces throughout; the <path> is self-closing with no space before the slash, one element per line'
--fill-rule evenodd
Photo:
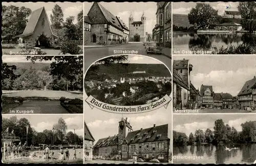
<path fill-rule="evenodd" d="M 193 145 L 174 146 L 173 163 L 246 163 L 251 164 L 256 160 L 256 144 L 236 145 L 239 149 L 231 151 L 225 150 L 225 146 L 230 145 Z M 201 159 L 178 159 L 185 156 L 202 156 Z M 175 159 L 176 158 L 176 159 Z"/>

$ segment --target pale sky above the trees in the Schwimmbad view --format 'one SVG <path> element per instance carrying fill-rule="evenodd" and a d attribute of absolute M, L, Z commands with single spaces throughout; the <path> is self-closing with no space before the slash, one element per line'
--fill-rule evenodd
<path fill-rule="evenodd" d="M 14 115 L 2 115 L 3 118 L 10 118 Z M 83 117 L 81 114 L 51 114 L 51 115 L 16 115 L 18 119 L 27 118 L 30 122 L 30 126 L 34 128 L 37 132 L 42 132 L 44 130 L 52 130 L 54 124 L 58 123 L 58 119 L 60 117 L 66 122 L 68 126 L 67 133 L 72 131 L 74 133 L 74 129 L 71 129 L 71 125 L 77 125 L 77 129 L 75 129 L 75 133 L 77 135 L 83 136 Z"/>

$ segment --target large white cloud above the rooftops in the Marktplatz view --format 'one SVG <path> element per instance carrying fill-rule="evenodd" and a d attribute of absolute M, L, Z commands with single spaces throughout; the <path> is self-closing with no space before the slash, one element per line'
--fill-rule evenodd
<path fill-rule="evenodd" d="M 208 74 L 198 73 L 191 75 L 190 79 L 194 86 L 212 85 L 214 92 L 230 93 L 236 96 L 245 81 L 253 78 L 255 68 L 241 68 L 236 71 L 213 70 Z"/>

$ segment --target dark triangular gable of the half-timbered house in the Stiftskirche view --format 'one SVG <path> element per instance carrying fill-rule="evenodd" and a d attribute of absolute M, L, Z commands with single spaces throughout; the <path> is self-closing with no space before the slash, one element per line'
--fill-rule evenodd
<path fill-rule="evenodd" d="M 104 14 L 102 13 L 98 3 L 93 3 L 91 9 L 88 12 L 88 17 L 91 20 L 92 24 L 97 23 L 108 23 Z"/>

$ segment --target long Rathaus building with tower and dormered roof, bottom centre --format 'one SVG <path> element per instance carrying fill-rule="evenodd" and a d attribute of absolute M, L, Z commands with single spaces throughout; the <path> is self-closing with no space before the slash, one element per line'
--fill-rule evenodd
<path fill-rule="evenodd" d="M 93 148 L 93 155 L 127 160 L 136 153 L 145 161 L 156 158 L 160 162 L 168 162 L 169 144 L 167 124 L 133 131 L 127 118 L 122 117 L 118 133 L 99 139 Z"/>

